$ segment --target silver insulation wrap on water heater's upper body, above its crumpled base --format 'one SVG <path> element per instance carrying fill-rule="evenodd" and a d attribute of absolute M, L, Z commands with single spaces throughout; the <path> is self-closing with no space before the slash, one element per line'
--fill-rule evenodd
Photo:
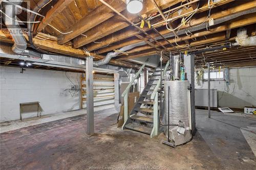
<path fill-rule="evenodd" d="M 185 128 L 189 127 L 189 100 L 188 81 L 168 81 L 164 82 L 164 124 L 168 124 L 168 86 L 170 86 L 169 96 L 169 121 L 170 125 L 177 125 L 179 121 L 184 122 Z M 172 128 L 173 126 L 170 126 Z"/>

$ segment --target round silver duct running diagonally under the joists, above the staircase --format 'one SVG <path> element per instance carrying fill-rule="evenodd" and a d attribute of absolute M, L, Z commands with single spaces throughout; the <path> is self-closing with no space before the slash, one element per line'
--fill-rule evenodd
<path fill-rule="evenodd" d="M 125 52 L 127 50 L 130 50 L 130 49 L 132 49 L 136 46 L 145 45 L 145 44 L 146 43 L 144 41 L 142 41 L 142 42 L 138 42 L 138 43 L 135 43 L 135 44 L 124 46 L 124 47 L 120 48 L 118 51 L 108 53 L 104 59 L 99 60 L 99 61 L 94 61 L 93 66 L 97 67 L 97 66 L 100 66 L 100 65 L 108 64 L 110 62 L 110 60 L 113 57 L 116 57 L 118 54 L 120 54 L 122 52 Z"/>

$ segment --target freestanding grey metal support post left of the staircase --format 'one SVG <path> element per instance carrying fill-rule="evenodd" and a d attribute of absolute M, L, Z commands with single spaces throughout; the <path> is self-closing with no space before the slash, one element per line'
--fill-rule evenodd
<path fill-rule="evenodd" d="M 86 105 L 87 105 L 87 135 L 94 134 L 93 110 L 93 57 L 86 59 Z"/>

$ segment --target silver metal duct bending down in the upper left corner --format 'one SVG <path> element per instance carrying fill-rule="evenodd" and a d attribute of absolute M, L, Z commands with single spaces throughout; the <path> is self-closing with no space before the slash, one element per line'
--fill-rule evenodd
<path fill-rule="evenodd" d="M 16 5 L 21 5 L 23 0 L 9 0 L 10 2 L 16 4 Z M 15 10 L 13 10 L 15 8 Z M 23 36 L 23 31 L 20 29 L 18 22 L 15 20 L 16 19 L 16 14 L 18 13 L 17 7 L 14 7 L 12 5 L 4 5 L 5 13 L 7 16 L 4 17 L 5 25 L 10 32 L 10 35 L 12 36 L 14 40 L 14 44 L 12 46 L 12 51 L 16 54 L 20 55 L 26 55 L 26 56 L 32 56 L 32 57 L 38 57 L 41 58 L 42 54 L 37 53 L 31 50 L 27 49 L 27 41 L 25 37 Z M 15 11 L 15 12 L 14 12 Z M 12 19 L 11 19 L 12 18 Z"/>

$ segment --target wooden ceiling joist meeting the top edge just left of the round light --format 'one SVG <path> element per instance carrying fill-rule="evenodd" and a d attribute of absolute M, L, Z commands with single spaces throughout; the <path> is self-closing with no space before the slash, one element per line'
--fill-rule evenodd
<path fill-rule="evenodd" d="M 108 0 L 108 3 L 113 6 L 117 11 L 121 12 L 126 8 L 125 3 L 123 3 L 121 0 Z M 73 38 L 83 34 L 84 32 L 94 28 L 95 26 L 99 25 L 103 21 L 111 18 L 114 16 L 115 13 L 113 13 L 108 7 L 106 6 L 100 6 L 90 12 L 89 15 L 84 16 L 79 21 L 75 23 L 72 27 L 70 27 L 65 32 L 70 32 L 69 34 L 63 34 L 59 35 L 58 44 L 64 44 Z"/>

